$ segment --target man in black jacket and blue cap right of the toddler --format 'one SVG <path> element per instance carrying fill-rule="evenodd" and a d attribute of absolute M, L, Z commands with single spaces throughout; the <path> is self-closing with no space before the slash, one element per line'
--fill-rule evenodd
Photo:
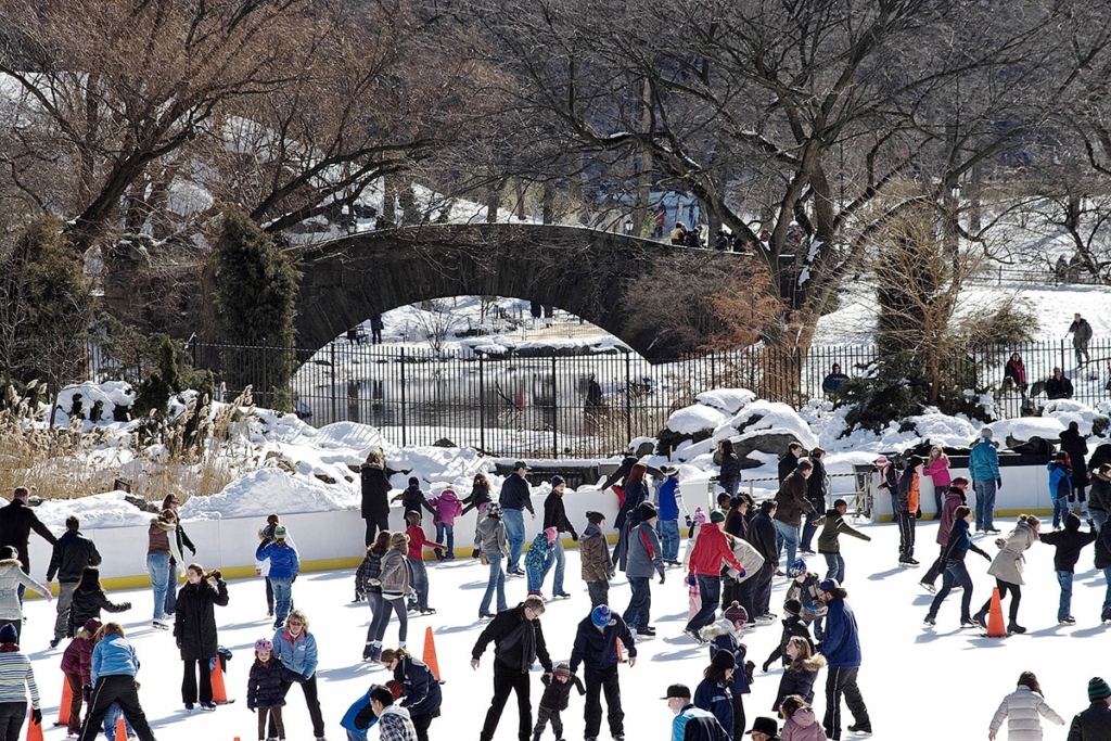
<path fill-rule="evenodd" d="M 583 664 L 587 685 L 584 741 L 598 741 L 602 725 L 601 693 L 605 693 L 605 719 L 613 741 L 624 741 L 624 711 L 621 709 L 621 685 L 618 682 L 618 641 L 629 652 L 629 668 L 637 665 L 637 643 L 621 615 L 600 604 L 579 622 L 571 649 L 571 673 Z M 527 741 L 522 739 L 522 741 Z"/>

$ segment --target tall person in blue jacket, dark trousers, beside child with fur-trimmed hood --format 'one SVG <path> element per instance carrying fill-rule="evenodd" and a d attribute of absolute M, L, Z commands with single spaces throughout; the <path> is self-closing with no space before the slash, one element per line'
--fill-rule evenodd
<path fill-rule="evenodd" d="M 844 598 L 849 593 L 837 581 L 827 579 L 821 583 L 822 600 L 829 611 L 825 613 L 825 640 L 821 654 L 825 657 L 825 717 L 822 727 L 831 741 L 841 741 L 841 695 L 844 695 L 852 713 L 851 733 L 871 733 L 872 721 L 868 717 L 864 697 L 857 684 L 860 673 L 860 634 L 857 617 Z"/>

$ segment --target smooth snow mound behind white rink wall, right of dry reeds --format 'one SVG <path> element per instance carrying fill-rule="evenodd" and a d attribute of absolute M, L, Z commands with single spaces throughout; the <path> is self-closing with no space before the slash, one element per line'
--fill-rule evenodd
<path fill-rule="evenodd" d="M 332 512 L 359 505 L 354 489 L 329 485 L 300 473 L 299 470 L 299 475 L 292 475 L 276 468 L 251 471 L 229 483 L 218 494 L 190 497 L 181 505 L 181 519 L 222 520 L 266 517 L 271 512 Z"/>

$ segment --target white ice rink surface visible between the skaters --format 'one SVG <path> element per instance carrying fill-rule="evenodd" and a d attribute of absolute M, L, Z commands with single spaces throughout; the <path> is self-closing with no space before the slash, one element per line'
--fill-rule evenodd
<path fill-rule="evenodd" d="M 997 521 L 1001 528 L 1007 523 Z M 924 564 L 934 554 L 933 537 L 937 525 L 918 528 L 918 558 L 920 569 L 901 569 L 895 564 L 898 533 L 890 524 L 858 524 L 872 538 L 863 542 L 842 539 L 848 563 L 845 588 L 849 603 L 857 613 L 863 643 L 863 665 L 860 684 L 872 718 L 874 739 L 894 741 L 903 739 L 973 739 L 983 738 L 988 723 L 1000 699 L 1014 688 L 1019 673 L 1034 671 L 1047 693 L 1047 701 L 1065 720 L 1088 704 L 1087 684 L 1093 675 L 1111 675 L 1105 661 L 1105 641 L 1111 627 L 1099 622 L 1104 580 L 1092 569 L 1092 550 L 1084 549 L 1077 572 L 1072 613 L 1074 627 L 1059 627 L 1055 620 L 1058 585 L 1053 572 L 1053 549 L 1040 543 L 1027 553 L 1025 580 L 1019 621 L 1029 632 L 1005 639 L 981 638 L 971 631 L 958 630 L 960 617 L 959 593 L 949 598 L 941 608 L 938 627 L 923 629 L 930 595 L 919 585 Z M 461 545 L 466 537 L 461 537 Z M 990 542 L 979 540 L 991 552 Z M 487 651 L 477 672 L 468 664 L 483 623 L 479 622 L 478 605 L 486 587 L 486 569 L 467 558 L 469 545 L 459 548 L 459 560 L 432 563 L 430 604 L 439 613 L 410 621 L 409 648 L 420 655 L 424 631 L 432 627 L 439 664 L 446 684 L 442 717 L 433 721 L 433 739 L 477 739 L 492 692 L 492 653 Z M 206 567 L 219 564 L 198 559 Z M 111 559 L 110 553 L 106 553 Z M 979 605 L 989 594 L 993 580 L 985 574 L 987 561 L 969 554 L 969 571 L 975 584 L 973 605 Z M 824 564 L 819 557 L 811 557 L 812 570 L 822 572 Z M 940 582 L 939 582 L 940 583 Z M 777 579 L 772 595 L 773 611 L 780 611 L 785 580 Z M 134 641 L 142 668 L 140 699 L 152 721 L 154 732 L 162 741 L 208 738 L 230 741 L 256 738 L 254 717 L 246 711 L 246 682 L 250 665 L 251 647 L 258 638 L 270 637 L 270 620 L 266 617 L 263 583 L 261 579 L 231 582 L 231 603 L 217 608 L 220 642 L 234 652 L 229 664 L 229 695 L 238 698 L 231 705 L 217 712 L 187 714 L 180 702 L 181 663 L 170 634 L 150 628 L 151 594 L 149 590 L 117 592 L 113 600 L 130 600 L 134 607 L 121 613 L 122 623 Z M 551 589 L 551 575 L 544 587 Z M 542 619 L 544 635 L 553 661 L 570 655 L 575 624 L 589 611 L 590 601 L 579 579 L 578 551 L 568 551 L 567 589 L 570 600 L 549 604 Z M 306 573 L 293 585 L 297 607 L 306 610 L 320 649 L 319 683 L 321 704 L 329 739 L 344 738 L 339 727 L 343 712 L 370 683 L 384 682 L 387 672 L 360 661 L 366 625 L 370 611 L 366 604 L 350 604 L 352 572 Z M 507 582 L 509 603 L 524 598 L 523 579 Z M 611 603 L 623 610 L 628 604 L 629 589 L 623 577 L 610 587 Z M 630 740 L 648 741 L 667 739 L 671 714 L 659 698 L 668 684 L 683 682 L 692 690 L 708 664 L 705 648 L 694 645 L 681 635 L 687 619 L 687 594 L 678 570 L 668 571 L 663 585 L 652 584 L 652 622 L 659 637 L 638 644 L 638 663 L 620 671 L 625 734 Z M 1004 610 L 1007 605 L 1004 604 Z M 63 729 L 51 728 L 57 718 L 62 674 L 59 670 L 61 649 L 43 650 L 53 623 L 53 605 L 42 600 L 29 601 L 28 623 L 23 645 L 30 652 L 36 678 L 43 693 L 46 738 L 60 741 Z M 387 631 L 387 644 L 397 641 L 397 624 Z M 751 695 L 745 698 L 745 712 L 770 715 L 771 703 L 781 675 L 773 668 L 761 673 L 759 665 L 779 640 L 778 624 L 751 631 L 744 642 L 749 658 L 757 662 L 757 681 Z M 536 708 L 540 692 L 540 670 L 533 670 L 532 702 Z M 815 708 L 819 713 L 825 702 L 821 688 L 824 671 L 819 677 Z M 571 705 L 564 713 L 565 735 L 569 740 L 582 739 L 582 699 L 572 694 Z M 497 739 L 509 741 L 516 737 L 516 705 L 509 707 Z M 850 722 L 847 719 L 847 724 Z M 311 728 L 303 698 L 297 688 L 289 695 L 286 711 L 287 734 L 290 740 L 311 739 Z M 548 732 L 550 733 L 550 731 Z M 1065 738 L 1065 729 L 1049 727 L 1045 739 Z M 377 739 L 377 733 L 371 734 Z M 546 734 L 546 739 L 551 735 Z M 604 730 L 602 738 L 608 738 Z M 852 738 L 845 734 L 845 738 Z M 1004 734 L 1000 735 L 1005 739 Z"/>

